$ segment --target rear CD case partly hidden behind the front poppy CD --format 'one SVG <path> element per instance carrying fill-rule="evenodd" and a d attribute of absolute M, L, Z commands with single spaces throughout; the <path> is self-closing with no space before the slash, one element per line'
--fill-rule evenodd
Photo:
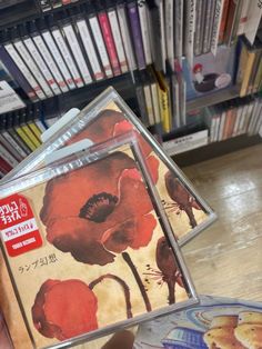
<path fill-rule="evenodd" d="M 216 218 L 113 88 L 107 89 L 67 124 L 59 128 L 59 122 L 56 123 L 57 131 L 44 144 L 4 176 L 4 181 L 41 167 L 44 157 L 61 147 L 85 138 L 98 143 L 133 129 L 148 167 L 153 170 L 155 187 L 179 245 L 185 243 Z"/>

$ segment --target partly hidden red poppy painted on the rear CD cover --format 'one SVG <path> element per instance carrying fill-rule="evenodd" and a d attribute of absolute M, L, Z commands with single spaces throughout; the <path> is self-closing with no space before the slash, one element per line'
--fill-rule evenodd
<path fill-rule="evenodd" d="M 105 109 L 101 111 L 95 119 L 80 133 L 74 136 L 68 143 L 78 142 L 84 138 L 89 138 L 94 143 L 103 142 L 112 137 L 123 134 L 130 130 L 135 130 L 134 126 L 129 122 L 124 116 L 114 110 Z M 135 130 L 140 148 L 150 169 L 153 181 L 158 181 L 159 160 L 151 154 L 152 147 Z"/>

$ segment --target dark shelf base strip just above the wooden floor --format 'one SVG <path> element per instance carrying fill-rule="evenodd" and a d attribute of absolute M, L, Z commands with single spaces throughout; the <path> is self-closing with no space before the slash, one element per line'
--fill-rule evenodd
<path fill-rule="evenodd" d="M 255 136 L 238 136 L 220 142 L 209 143 L 204 147 L 193 149 L 180 154 L 173 154 L 172 159 L 180 167 L 194 164 L 201 161 L 221 157 L 223 154 L 244 149 L 262 142 L 259 134 Z"/>

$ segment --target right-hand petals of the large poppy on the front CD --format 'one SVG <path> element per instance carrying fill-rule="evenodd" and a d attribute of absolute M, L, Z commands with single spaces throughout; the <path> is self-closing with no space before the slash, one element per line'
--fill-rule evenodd
<path fill-rule="evenodd" d="M 101 239 L 108 250 L 117 253 L 128 247 L 139 249 L 147 246 L 157 226 L 153 215 L 148 215 L 153 206 L 137 169 L 122 172 L 119 188 L 120 200 L 113 217 L 120 223 L 107 230 Z"/>

